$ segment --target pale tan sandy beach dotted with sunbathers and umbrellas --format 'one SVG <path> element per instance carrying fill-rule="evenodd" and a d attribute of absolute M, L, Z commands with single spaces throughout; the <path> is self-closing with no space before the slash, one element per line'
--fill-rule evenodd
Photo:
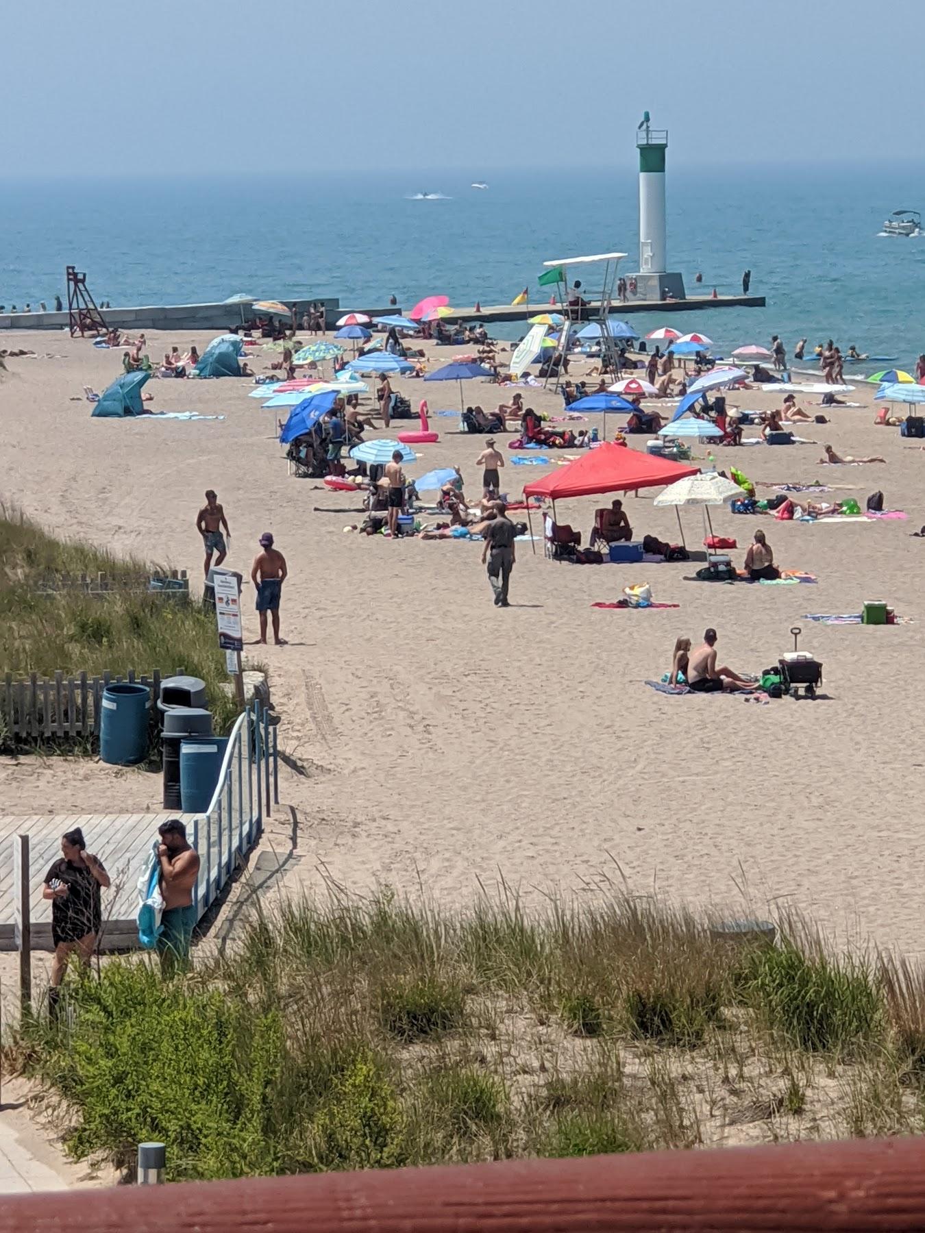
<path fill-rule="evenodd" d="M 174 343 L 201 350 L 210 337 L 149 333 L 148 350 L 157 356 Z M 155 412 L 222 420 L 91 419 L 83 387 L 105 388 L 121 371 L 120 351 L 56 333 L 1 342 L 57 356 L 10 359 L 0 377 L 4 501 L 58 533 L 186 568 L 197 583 L 195 518 L 206 488 L 217 491 L 231 523 L 231 567 L 248 575 L 258 536 L 274 533 L 290 568 L 281 612 L 289 645 L 259 649 L 285 751 L 285 809 L 268 842 L 285 847 L 295 829 L 308 882 L 324 872 L 353 890 L 423 887 L 453 905 L 471 900 L 480 880 L 493 889 L 503 878 L 527 901 L 550 890 L 587 898 L 625 880 L 634 894 L 692 904 L 791 905 L 839 936 L 921 952 L 909 810 L 921 763 L 908 732 L 921 707 L 914 656 L 925 547 L 910 533 L 925 522 L 925 455 L 898 429 L 873 425 L 876 386 L 857 382 L 844 397 L 861 408 L 828 408 L 830 424 L 800 429 L 818 445 L 714 450 L 719 466 L 735 465 L 758 483 L 820 480 L 844 490 L 826 499 L 853 496 L 862 507 L 879 488 L 887 508 L 908 513 L 905 522 L 826 525 L 713 512 L 715 533 L 739 543 L 738 563 L 761 526 L 777 563 L 815 573 L 818 584 L 698 583 L 686 581 L 697 568 L 689 562 L 574 567 L 545 560 L 541 543 L 535 555 L 518 544 L 504 610 L 492 605 L 479 544 L 344 534 L 360 520 L 350 512 L 359 502 L 287 475 L 274 412 L 247 397 L 249 380 L 147 386 Z M 786 342 L 789 350 L 793 340 Z M 440 348 L 439 361 L 464 350 Z M 259 372 L 273 359 L 263 350 L 250 363 Z M 458 408 L 455 385 L 392 383 L 414 408 L 422 397 L 432 411 Z M 539 411 L 561 409 L 551 392 L 523 393 Z M 492 409 L 501 391 L 467 382 L 465 397 Z M 777 395 L 757 392 L 729 401 L 779 406 Z M 818 395 L 800 401 L 821 411 Z M 599 416 L 585 427 L 593 425 L 602 427 Z M 615 427 L 608 417 L 610 434 Z M 432 428 L 440 441 L 421 446 L 408 475 L 459 465 L 477 494 L 485 439 L 459 434 L 455 417 L 435 417 Z M 823 443 L 887 462 L 823 467 Z M 630 444 L 641 449 L 645 438 Z M 518 456 L 502 448 L 508 464 Z M 704 466 L 708 453 L 694 448 Z M 555 465 L 508 465 L 502 487 L 519 493 Z M 639 538 L 673 541 L 675 512 L 652 507 L 657 491 L 628 496 L 625 507 Z M 587 543 L 593 510 L 608 499 L 559 504 L 560 522 Z M 699 546 L 702 515 L 682 517 L 688 546 Z M 592 607 L 638 582 L 680 607 Z M 887 600 L 909 623 L 803 619 L 860 612 L 866 599 Z M 249 583 L 244 608 L 245 636 L 254 636 Z M 644 684 L 670 668 L 681 635 L 697 645 L 713 625 L 720 662 L 760 672 L 792 649 L 794 624 L 804 630 L 800 647 L 824 663 L 826 698 L 755 705 L 738 695 L 665 697 Z M 158 795 L 157 778 L 141 772 L 35 757 L 0 762 L 4 813 L 141 810 Z"/>

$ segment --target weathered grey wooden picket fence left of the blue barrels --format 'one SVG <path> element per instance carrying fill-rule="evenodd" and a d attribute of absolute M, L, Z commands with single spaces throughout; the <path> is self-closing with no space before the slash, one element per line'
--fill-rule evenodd
<path fill-rule="evenodd" d="M 106 686 L 121 681 L 147 686 L 152 690 L 152 702 L 157 702 L 160 677 L 157 668 L 150 676 L 130 672 L 126 677 L 111 672 L 97 677 L 89 677 L 86 672 L 69 677 L 56 672 L 53 677 L 39 677 L 33 672 L 30 677 L 14 678 L 7 673 L 0 686 L 0 729 L 12 743 L 94 736 L 100 731 Z"/>

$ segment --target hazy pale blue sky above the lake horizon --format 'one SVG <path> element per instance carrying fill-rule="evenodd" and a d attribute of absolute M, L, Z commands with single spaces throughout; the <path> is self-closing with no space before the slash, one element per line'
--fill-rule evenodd
<path fill-rule="evenodd" d="M 923 0 L 6 0 L 4 176 L 920 160 Z"/>

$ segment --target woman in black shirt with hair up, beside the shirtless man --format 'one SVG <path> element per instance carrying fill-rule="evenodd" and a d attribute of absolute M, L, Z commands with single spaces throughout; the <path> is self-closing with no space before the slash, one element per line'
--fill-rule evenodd
<path fill-rule="evenodd" d="M 86 851 L 84 832 L 79 827 L 62 836 L 60 850 L 62 859 L 51 867 L 42 888 L 42 898 L 52 900 L 54 990 L 64 979 L 68 957 L 74 951 L 81 963 L 90 963 L 102 920 L 100 888 L 110 884 L 110 875 L 100 858 Z"/>

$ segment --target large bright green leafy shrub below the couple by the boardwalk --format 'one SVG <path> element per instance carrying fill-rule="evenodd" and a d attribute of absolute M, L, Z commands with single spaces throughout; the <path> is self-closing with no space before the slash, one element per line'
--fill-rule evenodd
<path fill-rule="evenodd" d="M 137 963 L 109 964 L 68 991 L 74 1026 L 47 1030 L 39 1068 L 79 1115 L 67 1136 L 75 1157 L 125 1168 L 153 1139 L 168 1144 L 171 1180 L 275 1171 L 278 1015 L 164 984 Z"/>

